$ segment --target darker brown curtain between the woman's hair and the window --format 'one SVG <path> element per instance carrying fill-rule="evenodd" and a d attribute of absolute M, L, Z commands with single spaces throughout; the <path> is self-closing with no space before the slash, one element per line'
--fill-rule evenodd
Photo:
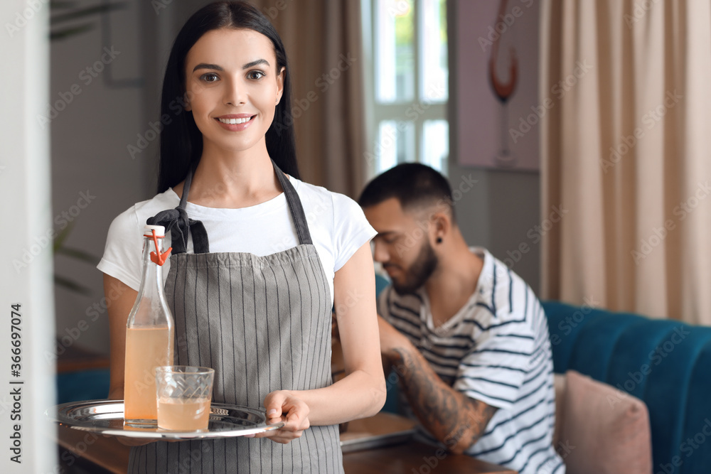
<path fill-rule="evenodd" d="M 359 0 L 250 0 L 289 55 L 304 181 L 355 198 L 365 180 Z"/>

